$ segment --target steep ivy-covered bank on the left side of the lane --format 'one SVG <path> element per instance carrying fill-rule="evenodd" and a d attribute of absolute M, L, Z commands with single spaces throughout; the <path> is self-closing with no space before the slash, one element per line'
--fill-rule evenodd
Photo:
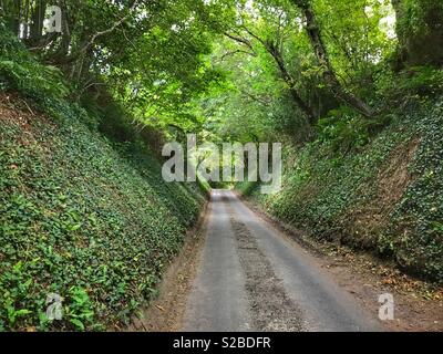
<path fill-rule="evenodd" d="M 116 327 L 155 296 L 204 192 L 164 183 L 115 105 L 68 102 L 60 72 L 0 45 L 0 331 Z"/>

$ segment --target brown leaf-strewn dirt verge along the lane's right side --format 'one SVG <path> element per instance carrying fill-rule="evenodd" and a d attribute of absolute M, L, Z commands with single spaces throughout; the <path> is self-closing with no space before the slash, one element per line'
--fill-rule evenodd
<path fill-rule="evenodd" d="M 443 288 L 435 290 L 434 296 L 439 296 L 437 299 L 425 299 L 432 284 L 403 274 L 392 268 L 392 264 L 372 254 L 356 252 L 332 242 L 309 240 L 302 230 L 269 215 L 238 190 L 233 191 L 259 218 L 279 231 L 282 238 L 290 243 L 296 242 L 316 258 L 319 266 L 367 311 L 377 313 L 378 296 L 392 293 L 396 299 L 395 320 L 380 321 L 387 331 L 443 332 Z M 379 271 L 384 271 L 385 274 L 382 275 Z M 401 282 L 405 282 L 406 285 L 399 287 Z M 439 311 L 435 311 L 439 308 L 442 309 L 440 315 Z"/>

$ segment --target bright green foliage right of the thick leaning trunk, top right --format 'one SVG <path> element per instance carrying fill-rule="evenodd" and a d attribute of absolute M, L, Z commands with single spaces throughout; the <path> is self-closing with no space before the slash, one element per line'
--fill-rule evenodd
<path fill-rule="evenodd" d="M 371 96 L 380 60 L 392 54 L 395 41 L 385 18 L 391 0 L 313 0 L 333 67 L 348 90 Z"/>

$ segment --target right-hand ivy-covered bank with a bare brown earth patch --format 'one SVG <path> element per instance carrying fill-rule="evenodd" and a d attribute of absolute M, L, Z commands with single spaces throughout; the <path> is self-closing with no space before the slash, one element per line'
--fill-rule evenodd
<path fill-rule="evenodd" d="M 238 188 L 312 238 L 377 251 L 442 282 L 443 101 L 430 101 L 400 105 L 389 126 L 361 147 L 343 144 L 346 122 L 329 124 L 329 131 L 320 124 L 313 143 L 285 144 L 278 195 L 260 195 L 254 184 Z"/>

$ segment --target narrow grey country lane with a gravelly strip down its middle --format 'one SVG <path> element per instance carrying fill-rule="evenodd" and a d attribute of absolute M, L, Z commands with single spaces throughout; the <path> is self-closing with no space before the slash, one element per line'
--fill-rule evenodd
<path fill-rule="evenodd" d="M 185 331 L 379 331 L 316 260 L 228 190 L 214 190 Z"/>

